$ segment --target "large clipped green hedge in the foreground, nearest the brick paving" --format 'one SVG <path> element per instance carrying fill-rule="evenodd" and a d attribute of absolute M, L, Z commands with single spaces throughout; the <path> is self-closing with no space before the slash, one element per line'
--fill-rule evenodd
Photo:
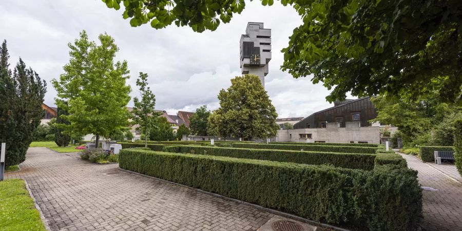
<path fill-rule="evenodd" d="M 413 230 L 422 212 L 417 172 L 372 171 L 123 149 L 120 167 L 319 222 Z"/>

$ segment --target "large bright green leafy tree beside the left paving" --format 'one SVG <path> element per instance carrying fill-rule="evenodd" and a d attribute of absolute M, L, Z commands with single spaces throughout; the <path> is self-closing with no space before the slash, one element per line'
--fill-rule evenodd
<path fill-rule="evenodd" d="M 100 136 L 126 130 L 130 101 L 127 62 L 114 63 L 119 48 L 111 36 L 105 33 L 98 38 L 101 45 L 89 41 L 82 31 L 74 44 L 68 44 L 70 60 L 64 73 L 52 80 L 56 105 L 69 113 L 61 115 L 70 122 L 62 126 L 64 133 L 95 134 L 97 147 Z"/>

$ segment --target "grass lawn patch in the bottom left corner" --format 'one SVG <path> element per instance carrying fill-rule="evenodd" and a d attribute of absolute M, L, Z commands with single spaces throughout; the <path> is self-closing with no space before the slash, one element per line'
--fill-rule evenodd
<path fill-rule="evenodd" d="M 23 180 L 0 182 L 0 229 L 46 230 Z"/>

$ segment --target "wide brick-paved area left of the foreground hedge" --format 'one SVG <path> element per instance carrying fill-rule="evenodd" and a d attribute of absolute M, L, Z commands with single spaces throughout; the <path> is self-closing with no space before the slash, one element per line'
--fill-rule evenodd
<path fill-rule="evenodd" d="M 6 178 L 27 180 L 52 230 L 256 230 L 275 216 L 47 148 Z"/>

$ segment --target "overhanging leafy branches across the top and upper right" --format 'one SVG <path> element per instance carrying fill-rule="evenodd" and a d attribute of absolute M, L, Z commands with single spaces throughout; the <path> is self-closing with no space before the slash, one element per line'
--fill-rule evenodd
<path fill-rule="evenodd" d="M 103 0 L 125 7 L 133 27 L 172 23 L 192 30 L 216 30 L 241 13 L 244 0 Z M 262 0 L 273 5 L 274 0 Z M 303 20 L 294 29 L 282 70 L 294 78 L 310 76 L 333 89 L 326 98 L 343 100 L 388 95 L 417 99 L 436 91 L 445 102 L 462 103 L 462 2 L 459 0 L 281 0 Z"/>

